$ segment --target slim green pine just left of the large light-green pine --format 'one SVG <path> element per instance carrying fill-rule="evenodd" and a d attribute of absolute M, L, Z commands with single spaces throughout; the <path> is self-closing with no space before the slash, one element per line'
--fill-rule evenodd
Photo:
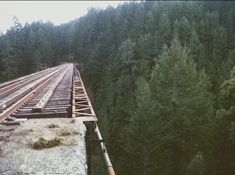
<path fill-rule="evenodd" d="M 155 103 L 152 100 L 148 82 L 140 77 L 137 80 L 137 109 L 130 118 L 129 126 L 124 130 L 124 151 L 129 163 L 127 174 L 151 175 L 153 172 L 153 156 L 157 151 L 159 140 L 158 120 Z M 133 172 L 135 167 L 135 172 Z"/>

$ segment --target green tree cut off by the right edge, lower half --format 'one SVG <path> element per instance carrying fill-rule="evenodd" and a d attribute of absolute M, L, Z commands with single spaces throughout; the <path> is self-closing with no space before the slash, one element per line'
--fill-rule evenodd
<path fill-rule="evenodd" d="M 231 78 L 226 80 L 220 91 L 222 108 L 217 111 L 217 125 L 215 127 L 215 145 L 212 156 L 212 173 L 235 173 L 235 67 L 231 71 Z M 214 164 L 213 164 L 214 163 Z"/>

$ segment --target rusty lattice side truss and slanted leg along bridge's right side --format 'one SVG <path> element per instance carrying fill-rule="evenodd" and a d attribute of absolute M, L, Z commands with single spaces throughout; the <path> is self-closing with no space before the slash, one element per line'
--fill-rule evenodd
<path fill-rule="evenodd" d="M 92 135 L 94 132 L 97 136 L 97 139 L 99 141 L 104 162 L 107 168 L 107 174 L 108 175 L 115 175 L 111 160 L 109 158 L 107 149 L 105 147 L 103 138 L 101 136 L 100 130 L 98 128 L 97 122 L 98 119 L 96 117 L 96 114 L 94 112 L 94 109 L 91 105 L 90 99 L 87 95 L 85 86 L 83 84 L 83 81 L 81 79 L 81 75 L 76 67 L 74 67 L 74 77 L 73 77 L 73 87 L 72 87 L 72 117 L 80 117 L 83 118 L 84 123 L 87 127 L 87 138 L 88 138 L 88 144 L 92 143 Z M 91 174 L 91 145 L 88 145 L 88 153 L 87 153 L 87 159 L 88 159 L 88 175 Z"/>

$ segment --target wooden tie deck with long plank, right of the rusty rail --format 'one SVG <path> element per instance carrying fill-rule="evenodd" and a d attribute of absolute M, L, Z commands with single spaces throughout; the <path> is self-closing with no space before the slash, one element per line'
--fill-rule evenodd
<path fill-rule="evenodd" d="M 57 74 L 37 95 L 19 108 L 12 117 L 16 118 L 64 118 L 71 116 L 71 87 L 73 65 Z"/>

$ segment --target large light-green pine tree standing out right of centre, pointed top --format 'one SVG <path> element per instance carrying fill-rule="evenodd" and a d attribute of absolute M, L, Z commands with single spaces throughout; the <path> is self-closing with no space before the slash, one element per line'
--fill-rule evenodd
<path fill-rule="evenodd" d="M 189 50 L 174 39 L 171 47 L 164 49 L 151 79 L 164 130 L 163 148 L 169 151 L 165 166 L 169 166 L 170 174 L 182 174 L 193 152 L 207 150 L 212 114 L 208 85 L 207 76 L 196 70 Z"/>

